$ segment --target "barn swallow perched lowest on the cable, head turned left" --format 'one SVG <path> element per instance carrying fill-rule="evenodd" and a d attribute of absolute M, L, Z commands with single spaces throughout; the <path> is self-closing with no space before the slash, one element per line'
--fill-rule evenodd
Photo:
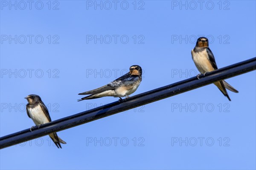
<path fill-rule="evenodd" d="M 26 99 L 29 102 L 26 105 L 26 112 L 29 118 L 32 118 L 35 125 L 40 126 L 52 121 L 47 107 L 38 95 L 28 95 Z M 49 136 L 58 148 L 61 148 L 61 144 L 66 144 L 66 142 L 58 137 L 57 133 L 51 133 Z"/>

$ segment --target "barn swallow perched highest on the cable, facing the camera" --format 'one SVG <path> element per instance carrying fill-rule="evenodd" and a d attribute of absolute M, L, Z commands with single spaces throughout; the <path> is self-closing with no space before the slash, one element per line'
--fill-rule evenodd
<path fill-rule="evenodd" d="M 195 66 L 201 74 L 205 74 L 206 72 L 211 72 L 215 69 L 218 69 L 215 58 L 212 54 L 212 51 L 209 49 L 208 39 L 206 37 L 198 38 L 195 48 L 191 51 L 192 59 L 195 62 Z M 214 83 L 218 89 L 231 101 L 229 95 L 227 94 L 227 89 L 232 92 L 238 93 L 238 91 L 228 84 L 226 81 L 218 81 Z"/>

